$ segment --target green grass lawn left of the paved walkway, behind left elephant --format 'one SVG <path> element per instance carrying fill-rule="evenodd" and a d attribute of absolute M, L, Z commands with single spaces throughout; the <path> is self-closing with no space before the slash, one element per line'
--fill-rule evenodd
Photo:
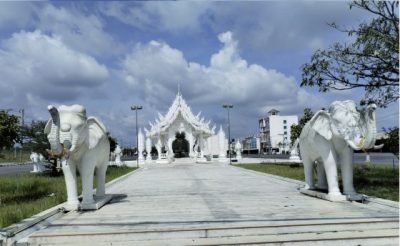
<path fill-rule="evenodd" d="M 136 168 L 109 166 L 106 182 Z M 78 177 L 78 191 L 81 180 Z M 64 176 L 49 174 L 14 174 L 0 177 L 0 228 L 63 203 L 67 199 Z"/>

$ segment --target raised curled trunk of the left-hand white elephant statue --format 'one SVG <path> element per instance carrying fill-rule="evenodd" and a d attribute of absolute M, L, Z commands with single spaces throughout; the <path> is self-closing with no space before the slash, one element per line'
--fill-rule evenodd
<path fill-rule="evenodd" d="M 58 156 L 63 152 L 63 146 L 60 143 L 60 116 L 58 110 L 53 105 L 48 106 L 51 115 L 52 124 L 50 133 L 47 135 L 51 147 L 51 155 Z"/>

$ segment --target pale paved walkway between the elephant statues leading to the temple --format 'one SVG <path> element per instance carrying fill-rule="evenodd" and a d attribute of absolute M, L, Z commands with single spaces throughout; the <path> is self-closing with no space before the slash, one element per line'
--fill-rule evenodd
<path fill-rule="evenodd" d="M 302 182 L 227 164 L 149 165 L 115 182 L 100 210 L 69 212 L 30 244 L 397 245 L 398 212 L 299 193 Z"/>

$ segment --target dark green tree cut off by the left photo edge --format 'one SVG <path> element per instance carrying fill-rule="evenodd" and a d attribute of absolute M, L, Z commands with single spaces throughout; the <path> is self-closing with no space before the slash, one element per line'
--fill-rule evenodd
<path fill-rule="evenodd" d="M 10 110 L 0 110 L 0 152 L 4 147 L 10 148 L 20 140 L 18 117 L 9 112 Z"/>

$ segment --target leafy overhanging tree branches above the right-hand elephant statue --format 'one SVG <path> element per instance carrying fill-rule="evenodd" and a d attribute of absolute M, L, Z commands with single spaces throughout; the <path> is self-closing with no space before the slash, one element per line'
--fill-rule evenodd
<path fill-rule="evenodd" d="M 374 18 L 358 28 L 330 24 L 355 39 L 317 50 L 302 66 L 301 86 L 318 86 L 321 92 L 364 88 L 361 104 L 372 100 L 386 107 L 399 99 L 399 1 L 360 0 L 351 3 L 353 7 Z"/>

